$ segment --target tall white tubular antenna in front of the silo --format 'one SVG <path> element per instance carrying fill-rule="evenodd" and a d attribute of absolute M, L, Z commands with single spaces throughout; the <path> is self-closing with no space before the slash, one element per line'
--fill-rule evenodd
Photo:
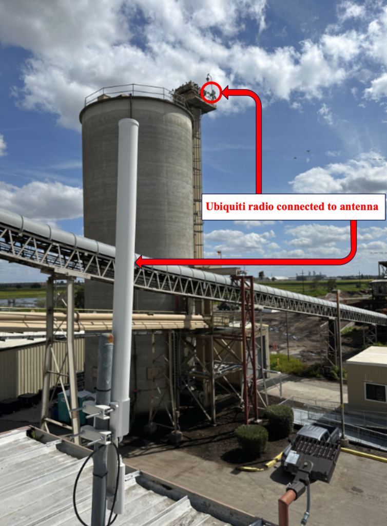
<path fill-rule="evenodd" d="M 115 439 L 129 432 L 138 126 L 137 120 L 134 119 L 122 119 L 118 123 L 116 264 L 113 301 L 114 351 L 111 375 L 111 400 L 119 402 L 119 410 L 111 413 L 111 427 L 113 427 Z M 114 413 L 116 413 L 116 418 L 112 418 Z"/>

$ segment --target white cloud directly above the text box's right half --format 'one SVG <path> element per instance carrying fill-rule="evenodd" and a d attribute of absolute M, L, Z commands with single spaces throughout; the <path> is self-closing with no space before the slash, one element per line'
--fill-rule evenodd
<path fill-rule="evenodd" d="M 385 194 L 387 164 L 373 160 L 381 157 L 371 151 L 360 155 L 358 160 L 311 168 L 289 184 L 299 194 Z"/>

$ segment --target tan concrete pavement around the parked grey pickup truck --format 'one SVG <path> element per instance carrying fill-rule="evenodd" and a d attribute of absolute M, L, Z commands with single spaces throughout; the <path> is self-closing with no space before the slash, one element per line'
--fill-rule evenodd
<path fill-rule="evenodd" d="M 185 451 L 163 451 L 155 444 L 121 449 L 124 462 L 190 491 L 278 523 L 278 499 L 293 480 L 280 466 L 263 472 L 243 472 L 226 464 L 202 460 Z M 387 464 L 341 453 L 330 484 L 311 485 L 308 526 L 385 524 Z M 306 494 L 291 505 L 290 523 L 299 524 Z"/>

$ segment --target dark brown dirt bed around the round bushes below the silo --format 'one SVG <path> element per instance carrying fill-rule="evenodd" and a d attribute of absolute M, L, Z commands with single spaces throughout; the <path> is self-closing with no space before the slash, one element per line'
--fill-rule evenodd
<path fill-rule="evenodd" d="M 278 402 L 278 397 L 269 396 L 269 404 Z M 268 421 L 265 418 L 263 406 L 260 408 L 259 418 L 262 418 L 262 425 L 266 427 Z M 158 421 L 167 423 L 166 421 L 162 422 L 161 419 Z M 231 468 L 240 466 L 264 468 L 264 463 L 272 460 L 289 445 L 288 439 L 270 441 L 269 438 L 267 450 L 260 458 L 251 459 L 247 457 L 234 436 L 235 429 L 245 423 L 244 415 L 239 409 L 239 404 L 232 403 L 230 399 L 225 400 L 223 408 L 217 410 L 217 426 L 212 426 L 207 419 L 203 418 L 203 413 L 196 408 L 189 408 L 189 410 L 182 412 L 180 428 L 184 439 L 178 446 L 169 442 L 170 431 L 168 429 L 158 427 L 154 434 L 149 435 L 144 432 L 144 423 L 146 422 L 136 422 L 130 436 L 124 439 L 122 444 L 124 449 L 127 446 L 136 449 L 154 446 L 158 446 L 162 450 L 178 448 L 203 460 L 211 460 Z M 299 426 L 296 426 L 296 432 L 298 429 Z M 289 438 L 291 439 L 293 436 L 294 433 L 291 433 Z M 387 452 L 362 448 L 355 444 L 350 444 L 350 449 L 387 458 Z"/>

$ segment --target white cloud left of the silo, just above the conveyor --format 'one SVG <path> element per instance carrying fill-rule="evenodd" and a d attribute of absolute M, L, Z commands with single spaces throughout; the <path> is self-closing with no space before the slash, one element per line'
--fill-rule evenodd
<path fill-rule="evenodd" d="M 21 188 L 0 181 L 1 207 L 30 219 L 55 225 L 83 214 L 82 188 L 33 181 Z"/>

